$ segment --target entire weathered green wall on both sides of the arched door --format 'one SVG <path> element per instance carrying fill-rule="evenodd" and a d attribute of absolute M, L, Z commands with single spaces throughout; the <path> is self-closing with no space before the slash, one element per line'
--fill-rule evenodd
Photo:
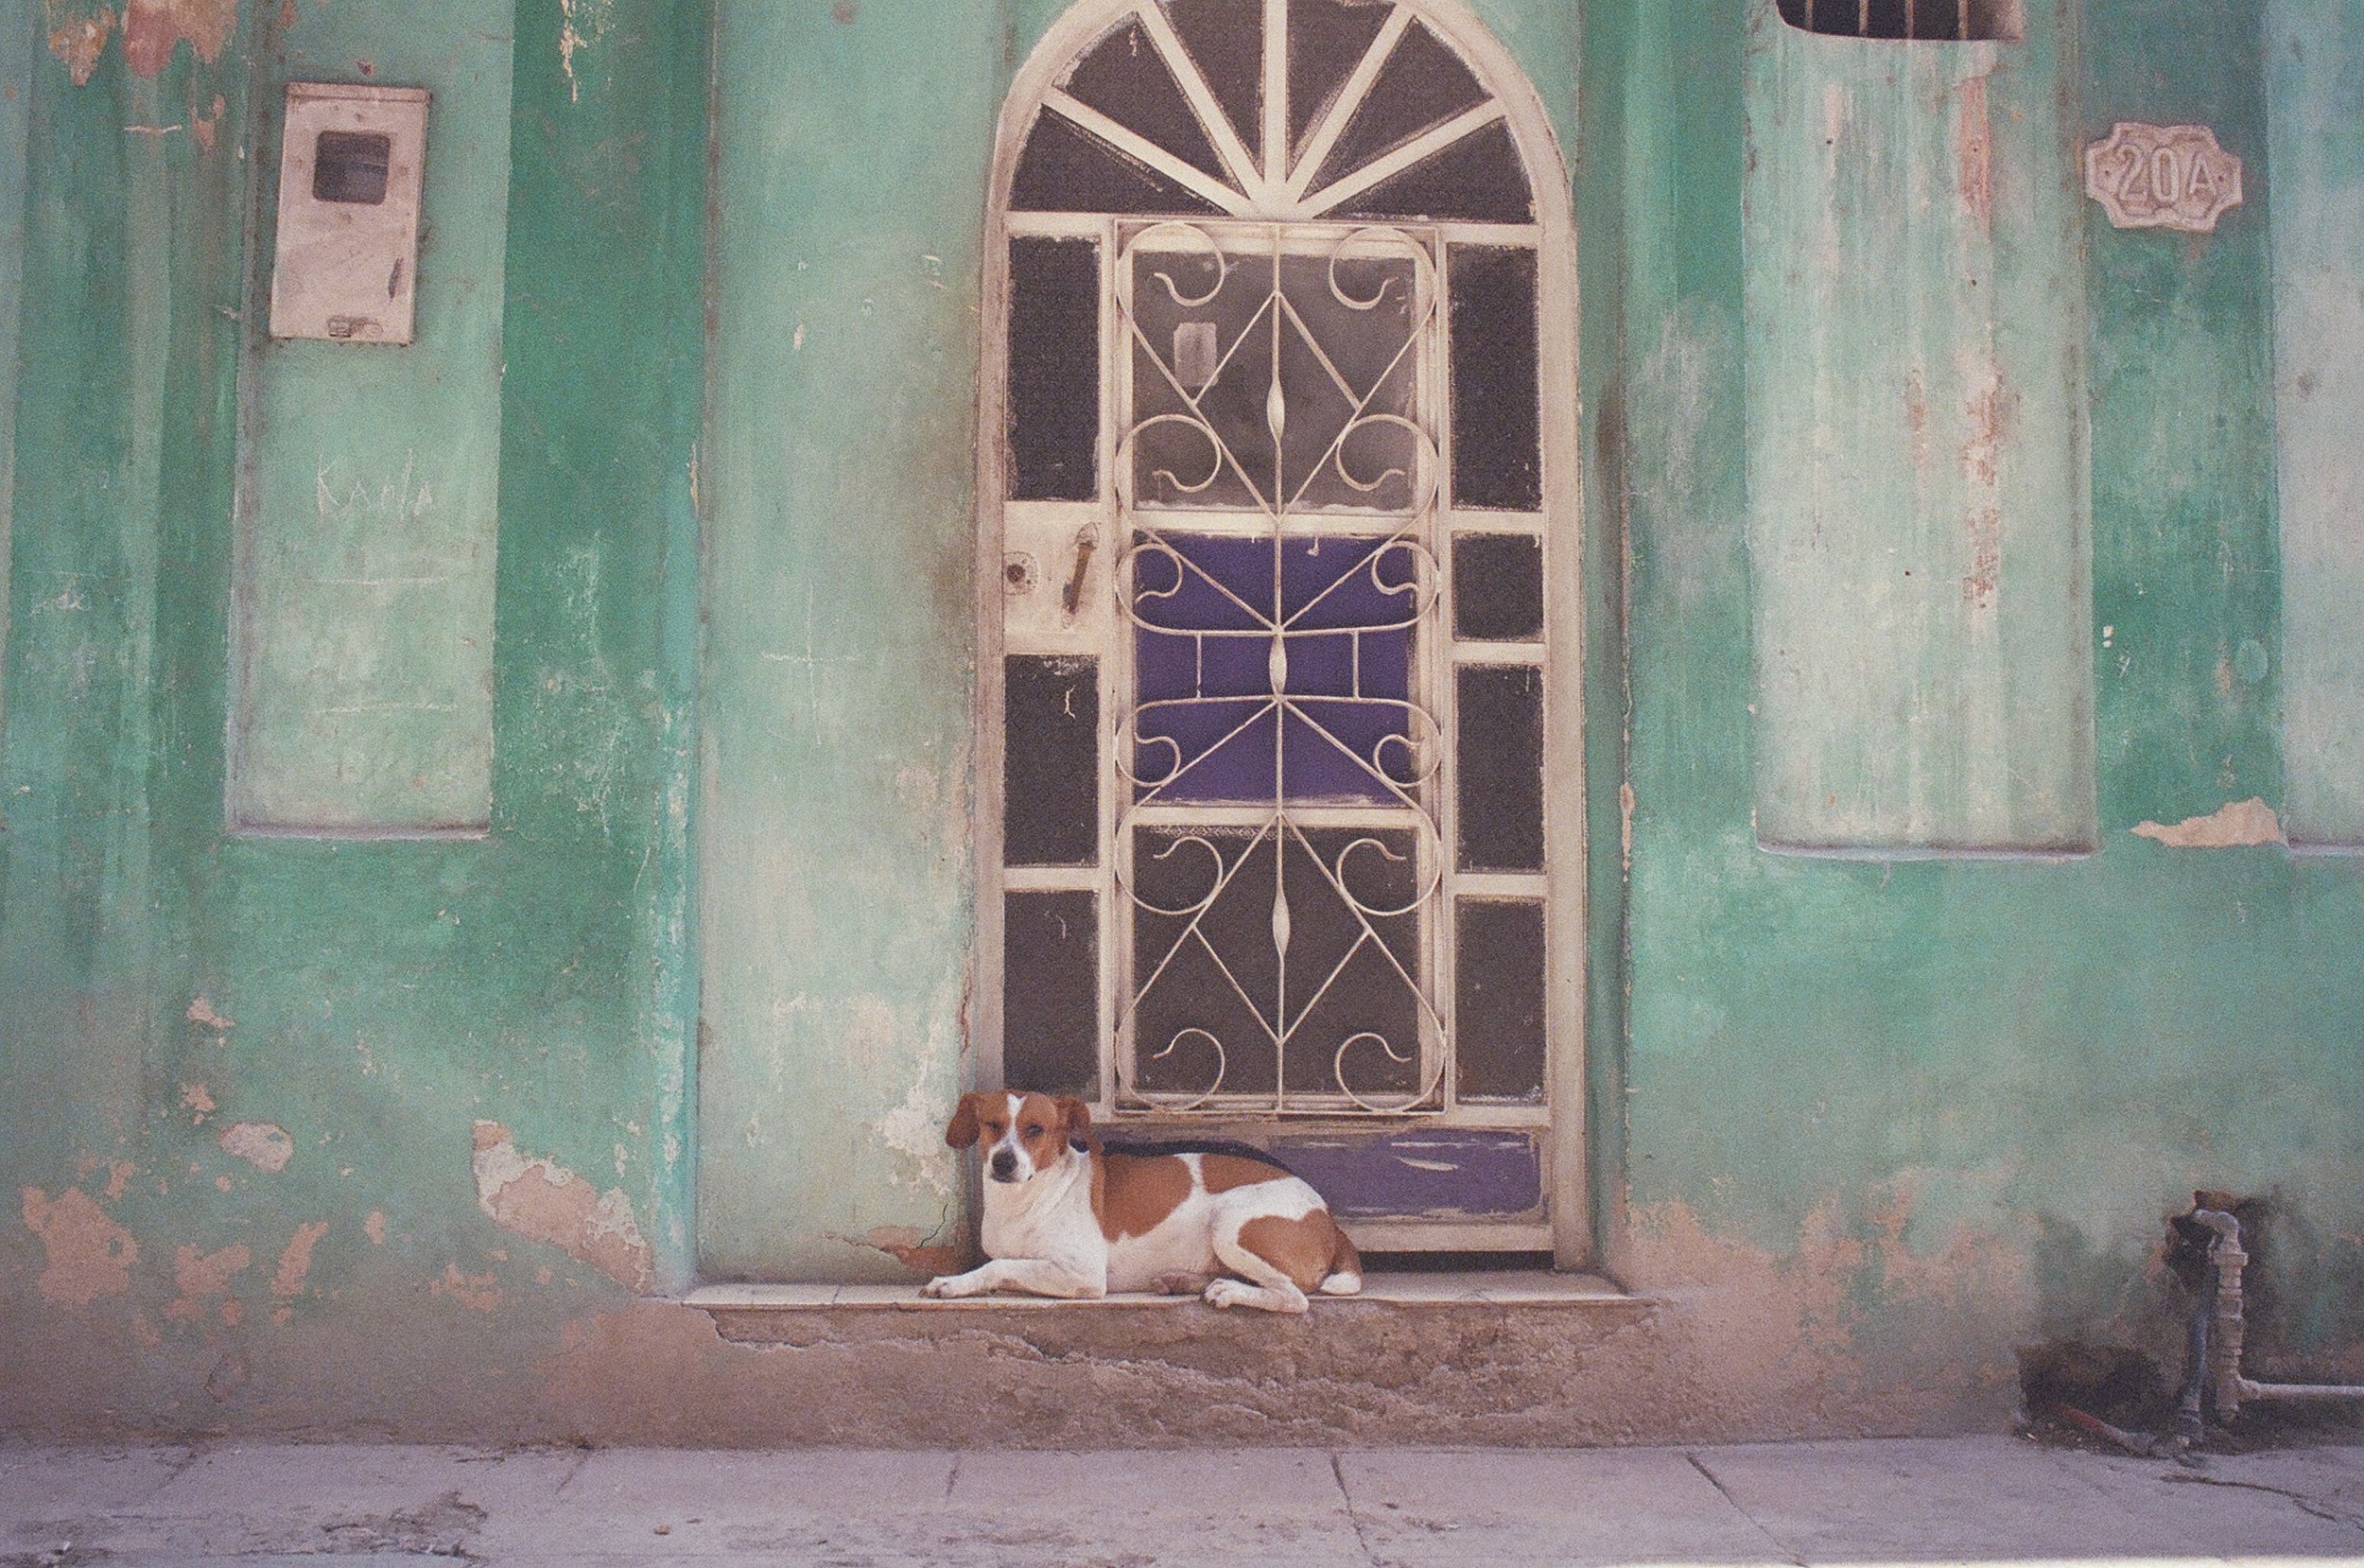
<path fill-rule="evenodd" d="M 38 1372 L 0 1426 L 695 1436 L 723 1395 L 690 1391 L 747 1365 L 636 1291 L 908 1277 L 894 1249 L 948 1232 L 979 234 L 1059 9 L 520 0 L 485 28 L 492 809 L 452 842 L 222 828 L 281 9 L 177 7 L 168 57 L 35 47 L 17 220 L 0 111 L 0 1360 Z M 2260 1355 L 2364 1372 L 2364 861 L 2217 816 L 2291 771 L 2262 14 L 2066 2 L 2014 64 L 2071 144 L 1998 158 L 2208 123 L 2248 203 L 2189 239 L 2047 196 L 2092 572 L 2047 657 L 2090 650 L 2099 847 L 1981 861 L 1759 847 L 1768 0 L 1470 9 L 1577 177 L 1589 1149 L 1608 1263 L 1697 1327 L 1674 1372 L 1723 1379 L 1730 1431 L 1995 1421 L 2024 1346 L 2170 1346 L 2144 1270 L 2194 1185 L 2277 1201 Z M 579 1381 L 584 1346 L 629 1393 Z"/>

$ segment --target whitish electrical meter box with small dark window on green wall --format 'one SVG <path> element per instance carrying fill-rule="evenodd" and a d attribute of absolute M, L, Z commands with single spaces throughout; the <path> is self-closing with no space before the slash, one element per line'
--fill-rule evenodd
<path fill-rule="evenodd" d="M 426 88 L 288 83 L 272 336 L 409 343 Z"/>

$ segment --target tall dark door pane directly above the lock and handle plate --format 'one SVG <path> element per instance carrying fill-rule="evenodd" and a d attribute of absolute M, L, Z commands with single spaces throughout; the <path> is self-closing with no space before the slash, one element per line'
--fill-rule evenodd
<path fill-rule="evenodd" d="M 1009 497 L 1099 494 L 1099 246 L 1009 241 Z"/>

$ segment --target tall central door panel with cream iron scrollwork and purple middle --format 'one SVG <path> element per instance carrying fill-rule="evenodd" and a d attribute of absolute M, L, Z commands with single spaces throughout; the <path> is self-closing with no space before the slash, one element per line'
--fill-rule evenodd
<path fill-rule="evenodd" d="M 1123 246 L 1121 1109 L 1442 1109 L 1430 244 L 1154 222 Z M 1161 352 L 1168 326 L 1203 378 Z"/>

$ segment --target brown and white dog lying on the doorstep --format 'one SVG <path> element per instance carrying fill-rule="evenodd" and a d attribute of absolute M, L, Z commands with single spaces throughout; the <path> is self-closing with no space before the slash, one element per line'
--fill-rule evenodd
<path fill-rule="evenodd" d="M 1073 1097 L 962 1095 L 943 1142 L 983 1140 L 986 1265 L 927 1296 L 1203 1294 L 1210 1305 L 1303 1313 L 1352 1296 L 1362 1258 L 1321 1194 L 1251 1154 L 1104 1154 Z"/>

